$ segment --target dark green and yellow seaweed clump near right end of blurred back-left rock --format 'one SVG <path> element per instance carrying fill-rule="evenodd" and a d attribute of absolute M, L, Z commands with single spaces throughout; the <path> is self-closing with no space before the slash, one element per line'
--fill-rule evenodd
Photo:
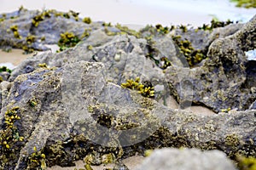
<path fill-rule="evenodd" d="M 67 48 L 73 48 L 80 41 L 79 37 L 75 36 L 73 32 L 65 32 L 61 34 L 61 39 L 58 42 L 60 51 L 64 51 Z"/>

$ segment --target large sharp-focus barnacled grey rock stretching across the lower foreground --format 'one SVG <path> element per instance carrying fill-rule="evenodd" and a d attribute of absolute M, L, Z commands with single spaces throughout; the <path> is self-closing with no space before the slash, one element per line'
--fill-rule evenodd
<path fill-rule="evenodd" d="M 119 160 L 148 148 L 174 146 L 221 149 L 228 156 L 255 154 L 253 111 L 216 116 L 173 111 L 108 82 L 107 68 L 100 62 L 79 61 L 16 77 L 0 117 L 4 121 L 4 113 L 18 107 L 16 133 L 24 140 L 9 141 L 15 159 L 2 166 L 42 166 L 32 164 L 36 159 L 49 167 L 67 167 L 92 152 L 99 154 L 95 159 L 113 153 Z M 7 129 L 1 130 L 4 134 Z"/>

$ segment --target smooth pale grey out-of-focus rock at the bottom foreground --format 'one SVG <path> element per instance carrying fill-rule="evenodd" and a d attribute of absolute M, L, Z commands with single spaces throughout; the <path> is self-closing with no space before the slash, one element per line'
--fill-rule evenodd
<path fill-rule="evenodd" d="M 137 170 L 236 170 L 236 167 L 219 150 L 201 151 L 197 149 L 166 148 L 154 150 Z"/>

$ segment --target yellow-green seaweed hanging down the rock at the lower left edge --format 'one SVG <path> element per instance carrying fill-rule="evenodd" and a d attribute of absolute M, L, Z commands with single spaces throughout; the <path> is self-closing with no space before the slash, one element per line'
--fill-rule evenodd
<path fill-rule="evenodd" d="M 3 129 L 0 130 L 0 169 L 13 167 L 12 161 L 19 156 L 24 137 L 20 136 L 16 123 L 20 120 L 20 107 L 15 106 L 4 114 Z"/>

